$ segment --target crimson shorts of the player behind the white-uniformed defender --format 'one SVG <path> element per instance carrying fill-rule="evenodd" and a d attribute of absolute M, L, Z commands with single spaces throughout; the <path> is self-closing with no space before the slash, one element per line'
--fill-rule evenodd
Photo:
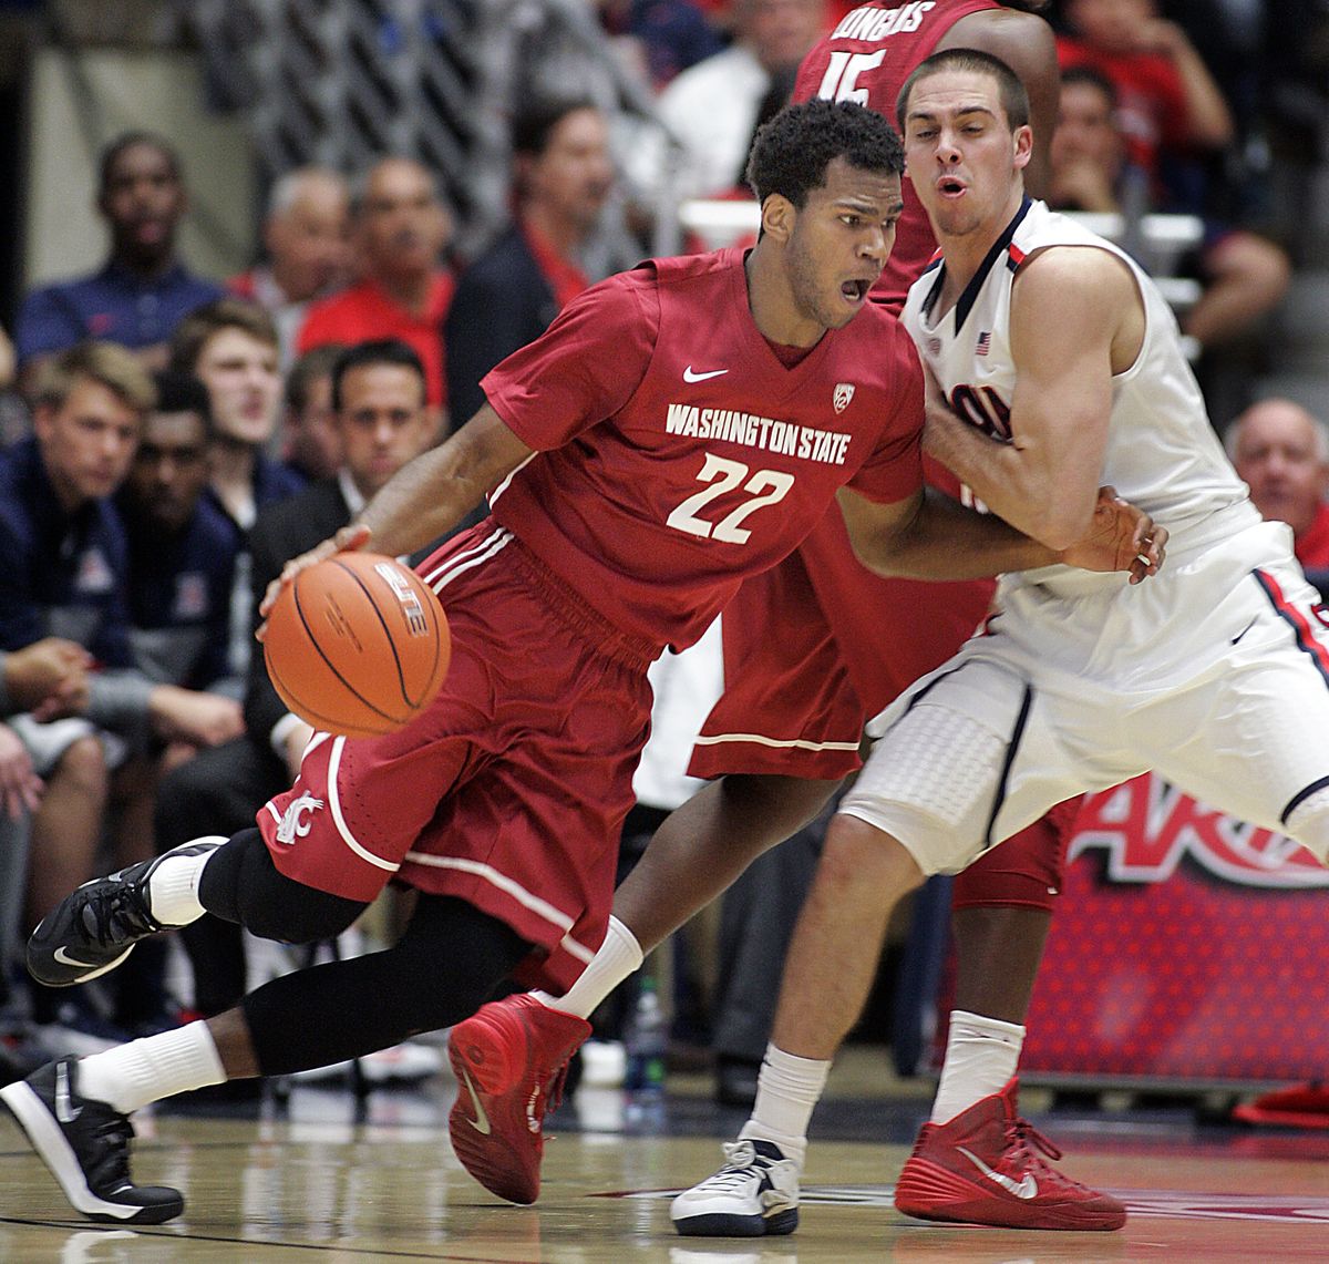
<path fill-rule="evenodd" d="M 827 514 L 799 550 L 746 579 L 724 607 L 724 694 L 688 772 L 819 780 L 853 772 L 867 718 L 965 642 L 993 586 L 882 579 L 855 558 L 840 514 Z M 1076 811 L 1078 800 L 1049 813 L 966 869 L 954 906 L 1050 909 Z"/>

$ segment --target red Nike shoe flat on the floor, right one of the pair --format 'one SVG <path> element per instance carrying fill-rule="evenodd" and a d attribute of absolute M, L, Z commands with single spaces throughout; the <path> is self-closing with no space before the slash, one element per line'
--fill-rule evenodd
<path fill-rule="evenodd" d="M 1045 1163 L 1062 1152 L 1015 1114 L 1017 1081 L 946 1123 L 925 1123 L 896 1183 L 921 1220 L 1017 1229 L 1119 1229 L 1126 1208 Z"/>

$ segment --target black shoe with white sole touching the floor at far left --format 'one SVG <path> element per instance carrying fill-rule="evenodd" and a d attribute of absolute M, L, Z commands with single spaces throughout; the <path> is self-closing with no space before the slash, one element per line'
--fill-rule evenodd
<path fill-rule="evenodd" d="M 136 1186 L 129 1175 L 134 1126 L 105 1102 L 78 1094 L 78 1062 L 61 1058 L 0 1089 L 0 1102 L 89 1220 L 161 1224 L 185 1210 L 179 1190 Z"/>

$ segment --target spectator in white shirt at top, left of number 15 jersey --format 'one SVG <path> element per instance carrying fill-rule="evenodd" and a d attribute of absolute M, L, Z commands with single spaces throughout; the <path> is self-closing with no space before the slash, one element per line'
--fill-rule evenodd
<path fill-rule="evenodd" d="M 743 183 L 763 101 L 773 82 L 784 82 L 783 96 L 788 96 L 799 62 L 821 36 L 825 20 L 825 0 L 734 0 L 734 44 L 684 70 L 659 97 L 661 121 L 682 145 L 671 179 L 680 197 L 727 194 Z M 661 159 L 650 156 L 649 161 Z M 635 165 L 633 174 L 647 190 L 668 178 Z"/>

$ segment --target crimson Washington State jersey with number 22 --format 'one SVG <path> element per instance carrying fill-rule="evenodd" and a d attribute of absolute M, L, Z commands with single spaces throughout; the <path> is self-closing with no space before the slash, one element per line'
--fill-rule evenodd
<path fill-rule="evenodd" d="M 867 304 L 792 368 L 748 311 L 743 251 L 649 261 L 574 299 L 481 383 L 537 449 L 490 496 L 615 626 L 691 645 L 849 485 L 922 482 L 918 358 Z"/>

